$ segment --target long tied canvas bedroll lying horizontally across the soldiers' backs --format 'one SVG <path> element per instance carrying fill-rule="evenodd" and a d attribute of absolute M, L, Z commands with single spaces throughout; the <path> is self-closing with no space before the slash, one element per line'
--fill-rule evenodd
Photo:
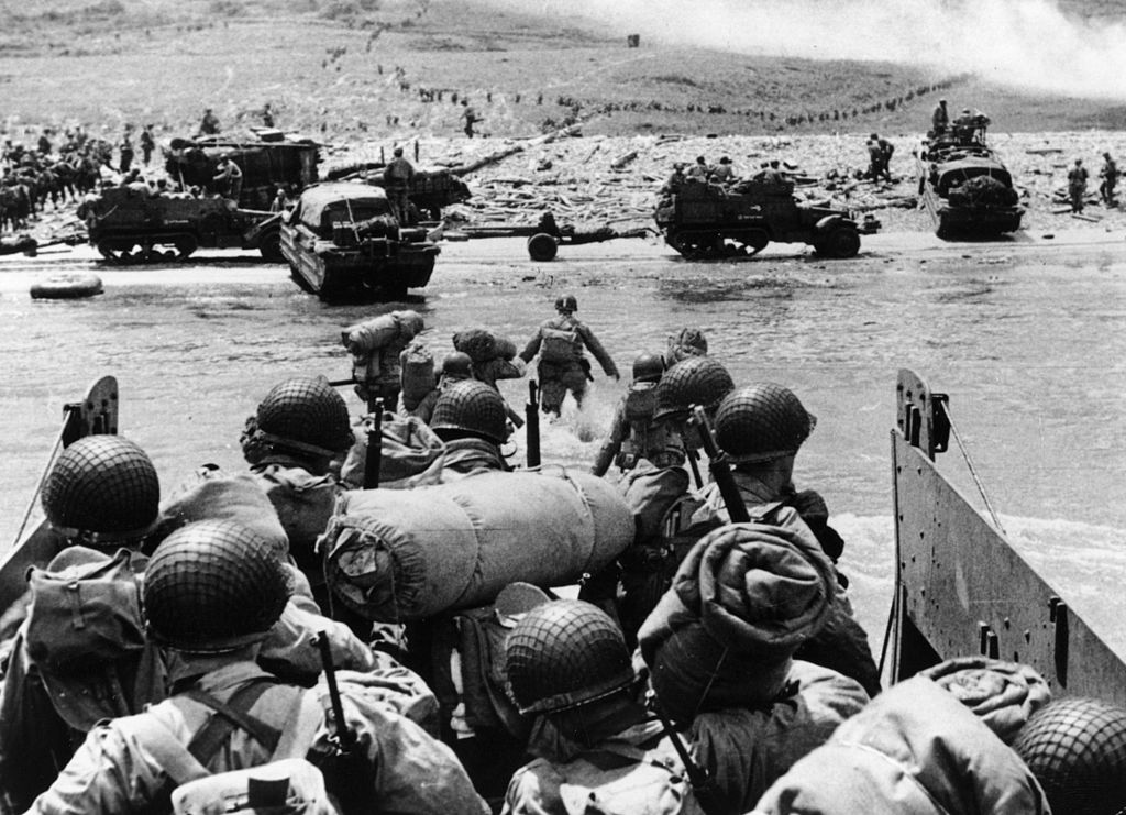
<path fill-rule="evenodd" d="M 345 606 L 401 623 L 484 606 L 515 581 L 573 583 L 633 539 L 633 513 L 613 484 L 560 471 L 349 492 L 320 547 Z"/>

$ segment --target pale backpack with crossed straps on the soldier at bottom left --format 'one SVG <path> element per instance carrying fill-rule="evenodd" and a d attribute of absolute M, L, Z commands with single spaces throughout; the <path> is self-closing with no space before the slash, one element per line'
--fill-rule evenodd
<path fill-rule="evenodd" d="M 238 690 L 227 704 L 204 691 L 185 693 L 214 711 L 187 745 L 153 716 L 132 720 L 133 735 L 177 785 L 171 791 L 171 810 L 176 815 L 232 812 L 338 815 L 321 770 L 303 758 L 322 720 L 320 702 L 304 688 L 293 688 L 293 701 L 282 719 L 285 727 L 278 731 L 250 714 L 250 708 L 271 687 L 271 681 L 253 682 Z M 223 749 L 235 728 L 271 747 L 270 761 L 212 773 L 207 762 Z"/>

